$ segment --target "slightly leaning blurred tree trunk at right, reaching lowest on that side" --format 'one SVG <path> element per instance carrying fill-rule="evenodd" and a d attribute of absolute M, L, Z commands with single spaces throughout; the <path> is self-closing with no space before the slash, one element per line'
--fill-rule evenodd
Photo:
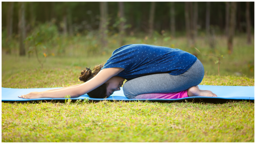
<path fill-rule="evenodd" d="M 233 36 L 235 34 L 235 22 L 236 22 L 236 2 L 231 2 L 229 37 L 228 37 L 228 52 L 229 52 L 229 54 L 233 53 Z"/>

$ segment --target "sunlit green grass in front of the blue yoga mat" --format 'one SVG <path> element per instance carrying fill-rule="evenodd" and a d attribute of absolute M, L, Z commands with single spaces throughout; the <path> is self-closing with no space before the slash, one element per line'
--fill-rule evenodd
<path fill-rule="evenodd" d="M 254 103 L 2 103 L 2 142 L 254 142 Z"/>

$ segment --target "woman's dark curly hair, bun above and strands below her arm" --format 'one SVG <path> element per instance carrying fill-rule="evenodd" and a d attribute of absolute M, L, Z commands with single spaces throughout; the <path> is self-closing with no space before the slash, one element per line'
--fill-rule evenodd
<path fill-rule="evenodd" d="M 103 64 L 100 65 L 95 65 L 93 70 L 91 71 L 90 69 L 88 70 L 82 70 L 81 75 L 79 76 L 79 80 L 87 82 L 88 80 L 92 79 L 94 76 L 96 76 L 99 71 L 101 71 L 101 68 L 104 66 Z M 103 83 L 101 86 L 99 86 L 96 89 L 93 89 L 92 91 L 88 92 L 87 94 L 91 98 L 96 98 L 96 99 L 104 99 L 107 97 L 107 84 Z"/>

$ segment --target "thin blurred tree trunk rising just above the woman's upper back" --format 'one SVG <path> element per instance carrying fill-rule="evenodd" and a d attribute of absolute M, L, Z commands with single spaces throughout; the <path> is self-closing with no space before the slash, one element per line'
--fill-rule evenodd
<path fill-rule="evenodd" d="M 120 20 L 120 26 L 119 26 L 119 35 L 120 35 L 120 46 L 124 45 L 123 35 L 125 33 L 125 14 L 124 14 L 124 6 L 123 2 L 118 2 L 119 6 L 119 20 Z"/>

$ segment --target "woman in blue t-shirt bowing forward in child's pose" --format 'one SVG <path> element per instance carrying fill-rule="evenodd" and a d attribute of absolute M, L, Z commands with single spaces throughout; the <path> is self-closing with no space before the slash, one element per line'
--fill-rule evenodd
<path fill-rule="evenodd" d="M 19 97 L 64 98 L 70 95 L 75 98 L 87 93 L 93 98 L 105 98 L 119 91 L 125 79 L 128 81 L 123 85 L 123 91 L 128 99 L 137 99 L 141 94 L 184 91 L 189 97 L 217 97 L 211 91 L 198 88 L 203 77 L 203 65 L 190 53 L 155 45 L 130 44 L 114 50 L 104 66 L 97 65 L 93 71 L 90 68 L 83 70 L 79 79 L 85 83 L 44 92 L 30 92 Z"/>

